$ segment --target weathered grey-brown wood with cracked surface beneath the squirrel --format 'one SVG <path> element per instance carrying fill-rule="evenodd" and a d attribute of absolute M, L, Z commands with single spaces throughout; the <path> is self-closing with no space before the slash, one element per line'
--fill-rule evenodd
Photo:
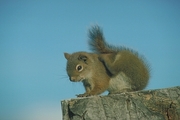
<path fill-rule="evenodd" d="M 180 86 L 63 100 L 63 120 L 180 120 Z"/>

